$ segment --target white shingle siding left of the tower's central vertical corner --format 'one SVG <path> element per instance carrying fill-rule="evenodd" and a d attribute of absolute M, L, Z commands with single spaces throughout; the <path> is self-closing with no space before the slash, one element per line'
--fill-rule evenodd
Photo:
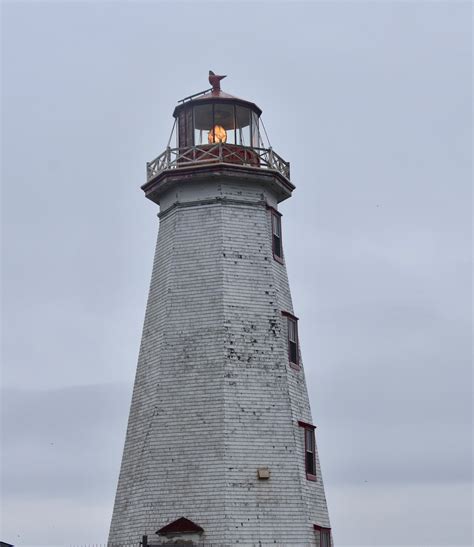
<path fill-rule="evenodd" d="M 162 219 L 110 541 L 185 515 L 222 527 L 221 210 Z"/>

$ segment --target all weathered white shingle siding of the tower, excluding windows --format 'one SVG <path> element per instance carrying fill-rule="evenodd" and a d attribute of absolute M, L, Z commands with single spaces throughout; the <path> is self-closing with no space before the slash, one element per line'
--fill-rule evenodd
<path fill-rule="evenodd" d="M 187 517 L 205 545 L 315 545 L 329 526 L 304 371 L 289 366 L 293 312 L 272 253 L 263 184 L 178 185 L 161 220 L 110 542 Z M 259 467 L 270 469 L 259 480 Z"/>

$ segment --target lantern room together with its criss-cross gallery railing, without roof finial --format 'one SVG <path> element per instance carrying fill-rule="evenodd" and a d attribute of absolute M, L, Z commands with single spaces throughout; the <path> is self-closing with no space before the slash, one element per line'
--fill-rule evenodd
<path fill-rule="evenodd" d="M 256 104 L 221 90 L 184 99 L 173 112 L 175 123 L 166 150 L 147 163 L 147 182 L 164 171 L 216 163 L 277 171 L 289 182 L 289 162 L 273 151 L 268 137 L 268 144 L 264 142 L 261 114 Z M 223 140 L 216 137 L 216 129 L 225 134 Z M 173 137 L 174 148 L 170 147 Z"/>

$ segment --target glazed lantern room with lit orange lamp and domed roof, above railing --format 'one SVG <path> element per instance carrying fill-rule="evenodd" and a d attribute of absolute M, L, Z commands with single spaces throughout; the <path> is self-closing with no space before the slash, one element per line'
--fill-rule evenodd
<path fill-rule="evenodd" d="M 261 113 L 257 105 L 220 90 L 184 101 L 173 113 L 178 147 L 225 143 L 259 148 Z"/>

